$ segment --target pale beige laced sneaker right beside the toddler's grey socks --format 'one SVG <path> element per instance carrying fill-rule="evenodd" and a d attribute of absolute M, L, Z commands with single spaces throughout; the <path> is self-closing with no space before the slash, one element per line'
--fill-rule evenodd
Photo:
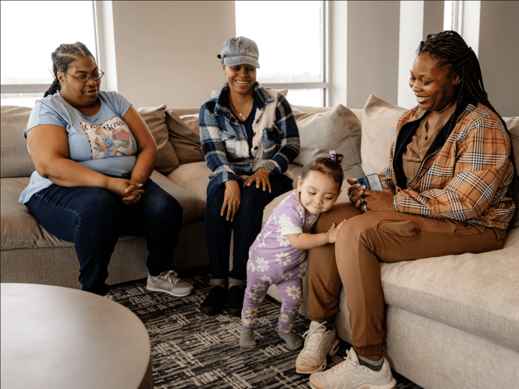
<path fill-rule="evenodd" d="M 305 346 L 295 361 L 295 371 L 311 374 L 326 368 L 326 356 L 334 356 L 339 349 L 335 330 L 326 331 L 324 323 L 311 322 L 310 329 L 303 335 Z"/>

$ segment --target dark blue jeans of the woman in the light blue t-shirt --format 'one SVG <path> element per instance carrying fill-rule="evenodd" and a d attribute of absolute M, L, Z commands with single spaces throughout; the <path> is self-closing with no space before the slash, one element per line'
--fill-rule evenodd
<path fill-rule="evenodd" d="M 73 242 L 83 290 L 105 295 L 108 262 L 119 234 L 145 237 L 149 274 L 169 270 L 182 226 L 182 206 L 148 179 L 139 202 L 125 205 L 97 187 L 52 184 L 25 203 L 38 223 L 56 237 Z"/>

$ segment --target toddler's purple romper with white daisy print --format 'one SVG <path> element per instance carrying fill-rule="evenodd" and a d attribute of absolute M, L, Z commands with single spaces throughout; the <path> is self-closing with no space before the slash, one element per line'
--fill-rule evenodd
<path fill-rule="evenodd" d="M 249 250 L 247 288 L 241 312 L 245 327 L 254 327 L 257 312 L 270 285 L 281 294 L 279 330 L 292 331 L 302 303 L 302 281 L 306 273 L 306 250 L 290 245 L 286 235 L 310 233 L 318 215 L 308 212 L 298 191 L 285 198 L 272 212 Z"/>

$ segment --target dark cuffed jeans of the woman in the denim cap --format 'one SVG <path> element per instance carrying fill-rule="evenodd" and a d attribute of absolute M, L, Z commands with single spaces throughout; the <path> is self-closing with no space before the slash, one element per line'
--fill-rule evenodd
<path fill-rule="evenodd" d="M 213 285 L 247 283 L 249 248 L 261 231 L 263 209 L 274 198 L 292 190 L 292 180 L 285 175 L 270 177 L 272 193 L 256 189 L 253 184 L 241 187 L 241 203 L 233 223 L 220 216 L 225 196 L 225 184 L 211 180 L 207 186 L 206 241 L 209 251 L 211 283 Z M 227 212 L 227 211 L 226 211 Z M 230 238 L 234 229 L 233 270 L 229 272 Z"/>

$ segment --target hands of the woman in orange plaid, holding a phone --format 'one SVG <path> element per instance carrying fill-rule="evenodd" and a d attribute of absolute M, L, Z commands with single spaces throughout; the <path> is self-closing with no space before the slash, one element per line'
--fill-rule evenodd
<path fill-rule="evenodd" d="M 357 184 L 352 178 L 346 179 L 351 186 L 348 188 L 348 198 L 362 212 L 394 211 L 394 194 L 389 189 L 383 191 L 366 189 Z"/>

